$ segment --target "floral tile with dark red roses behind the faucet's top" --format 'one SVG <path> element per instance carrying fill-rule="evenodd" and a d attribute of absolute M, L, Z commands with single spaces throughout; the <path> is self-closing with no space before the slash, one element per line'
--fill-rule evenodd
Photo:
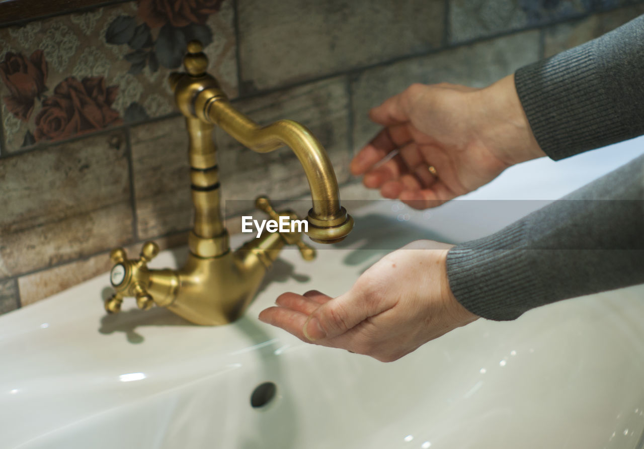
<path fill-rule="evenodd" d="M 0 29 L 1 152 L 174 110 L 167 75 L 191 39 L 237 95 L 231 0 L 140 0 Z"/>

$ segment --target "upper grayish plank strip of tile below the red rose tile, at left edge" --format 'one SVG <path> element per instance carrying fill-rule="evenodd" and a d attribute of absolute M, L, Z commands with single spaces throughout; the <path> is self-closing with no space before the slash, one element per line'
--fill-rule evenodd
<path fill-rule="evenodd" d="M 0 160 L 0 234 L 35 228 L 128 201 L 122 131 Z"/>

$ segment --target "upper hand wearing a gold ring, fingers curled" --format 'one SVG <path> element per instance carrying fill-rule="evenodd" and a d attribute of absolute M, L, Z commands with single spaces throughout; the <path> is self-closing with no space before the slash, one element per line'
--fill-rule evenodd
<path fill-rule="evenodd" d="M 514 75 L 484 89 L 413 84 L 369 116 L 383 130 L 356 154 L 351 172 L 364 174 L 365 186 L 379 188 L 383 197 L 417 209 L 438 206 L 515 163 L 545 156 L 516 94 Z"/>

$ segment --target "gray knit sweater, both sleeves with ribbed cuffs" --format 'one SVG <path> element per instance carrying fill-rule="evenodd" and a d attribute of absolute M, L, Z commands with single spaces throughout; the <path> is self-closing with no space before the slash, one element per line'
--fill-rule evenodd
<path fill-rule="evenodd" d="M 644 134 L 644 15 L 516 71 L 536 140 L 560 160 Z M 448 253 L 469 311 L 513 320 L 533 307 L 644 283 L 644 155 Z"/>

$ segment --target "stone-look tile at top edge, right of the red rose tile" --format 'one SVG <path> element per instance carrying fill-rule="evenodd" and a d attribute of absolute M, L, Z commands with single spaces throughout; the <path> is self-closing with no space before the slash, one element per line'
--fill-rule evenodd
<path fill-rule="evenodd" d="M 440 46 L 444 2 L 240 0 L 244 89 L 267 89 Z"/>

